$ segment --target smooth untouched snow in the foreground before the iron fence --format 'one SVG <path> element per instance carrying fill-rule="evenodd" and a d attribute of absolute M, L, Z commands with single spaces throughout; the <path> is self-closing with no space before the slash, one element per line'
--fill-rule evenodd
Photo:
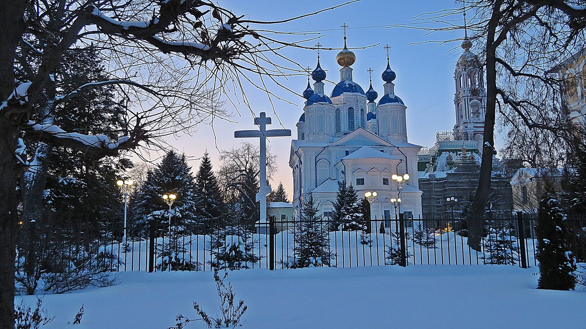
<path fill-rule="evenodd" d="M 244 328 L 584 328 L 586 292 L 537 290 L 537 268 L 416 265 L 230 272 Z M 117 286 L 46 295 L 42 328 L 168 328 L 193 301 L 219 310 L 210 272 L 121 272 Z M 16 298 L 35 303 L 35 296 Z M 70 325 L 84 304 L 80 325 Z M 186 328 L 206 327 L 192 321 Z"/>

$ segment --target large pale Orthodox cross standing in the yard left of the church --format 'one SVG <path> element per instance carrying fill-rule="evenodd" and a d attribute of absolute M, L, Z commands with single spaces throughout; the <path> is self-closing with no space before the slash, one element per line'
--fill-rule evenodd
<path fill-rule="evenodd" d="M 267 186 L 267 137 L 291 136 L 291 129 L 267 130 L 271 118 L 260 112 L 260 118 L 254 118 L 254 124 L 259 130 L 239 130 L 234 132 L 234 138 L 260 138 L 260 191 L 256 195 L 256 201 L 260 201 L 260 222 L 267 222 L 267 194 L 271 192 Z"/>

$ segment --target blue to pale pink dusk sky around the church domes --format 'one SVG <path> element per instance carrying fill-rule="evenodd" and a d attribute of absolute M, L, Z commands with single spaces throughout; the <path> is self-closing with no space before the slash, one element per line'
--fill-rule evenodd
<path fill-rule="evenodd" d="M 319 9 L 343 4 L 345 1 L 221 1 L 225 8 L 231 9 L 236 15 L 249 15 L 254 20 L 281 20 L 305 13 L 315 12 Z M 454 111 L 454 69 L 462 49 L 461 42 L 439 44 L 434 40 L 451 40 L 462 37 L 464 32 L 456 30 L 451 32 L 439 32 L 426 35 L 421 29 L 407 28 L 383 28 L 389 25 L 413 24 L 414 18 L 421 13 L 454 8 L 454 0 L 434 1 L 379 1 L 362 0 L 342 6 L 332 11 L 319 13 L 294 22 L 277 25 L 264 25 L 263 29 L 278 30 L 282 32 L 307 32 L 305 35 L 271 35 L 281 40 L 303 40 L 309 37 L 318 37 L 304 43 L 312 47 L 320 42 L 324 47 L 343 47 L 343 23 L 349 26 L 347 29 L 348 47 L 367 47 L 366 49 L 354 49 L 356 63 L 353 64 L 353 80 L 360 84 L 364 91 L 369 87 L 369 74 L 367 69 L 372 67 L 373 87 L 379 93 L 383 93 L 383 81 L 381 73 L 386 68 L 386 52 L 384 45 L 389 44 L 391 68 L 396 72 L 397 78 L 395 93 L 407 105 L 407 133 L 408 141 L 422 146 L 433 146 L 435 133 L 438 131 L 451 131 L 455 123 Z M 462 24 L 461 21 L 452 23 Z M 412 25 L 421 26 L 421 25 Z M 427 25 L 428 26 L 428 25 Z M 330 94 L 335 83 L 339 82 L 341 68 L 336 63 L 336 54 L 339 50 L 322 50 L 321 66 L 326 70 L 325 92 Z M 316 66 L 316 52 L 308 49 L 283 49 L 281 55 L 287 57 L 301 67 Z M 275 63 L 286 64 L 276 56 L 271 57 Z M 289 196 L 292 191 L 292 172 L 288 165 L 291 140 L 297 136 L 299 116 L 303 113 L 304 98 L 300 95 L 307 85 L 306 76 L 292 76 L 280 78 L 278 81 L 285 87 L 268 84 L 268 88 L 275 95 L 286 101 L 272 99 L 272 105 L 267 94 L 258 90 L 253 85 L 243 85 L 243 90 L 250 101 L 251 109 L 258 116 L 260 112 L 267 112 L 272 117 L 272 125 L 268 129 L 287 128 L 292 130 L 292 137 L 271 138 L 267 145 L 272 153 L 277 155 L 278 170 L 272 179 L 272 186 L 276 188 L 282 181 Z M 313 81 L 312 81 L 313 83 Z M 294 94 L 289 90 L 295 91 Z M 185 152 L 190 157 L 190 165 L 196 172 L 199 159 L 205 150 L 210 153 L 214 169 L 220 166 L 218 157 L 220 150 L 237 148 L 243 141 L 258 145 L 258 139 L 234 139 L 234 131 L 242 129 L 257 129 L 253 124 L 251 109 L 242 102 L 238 103 L 233 91 L 230 96 L 236 106 L 227 103 L 227 110 L 234 116 L 231 123 L 227 121 L 214 121 L 214 127 L 200 125 L 197 131 L 191 135 L 175 136 L 168 140 L 174 148 Z M 293 104 L 289 104 L 293 103 Z M 238 114 L 240 113 L 240 115 Z M 280 124 L 281 123 L 281 124 Z M 215 136 L 214 136 L 215 132 Z"/>

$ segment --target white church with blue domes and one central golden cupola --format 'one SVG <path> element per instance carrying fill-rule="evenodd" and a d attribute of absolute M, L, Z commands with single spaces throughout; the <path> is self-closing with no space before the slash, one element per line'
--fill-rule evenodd
<path fill-rule="evenodd" d="M 401 198 L 399 212 L 407 218 L 421 216 L 421 194 L 417 180 L 417 153 L 421 146 L 407 140 L 407 106 L 395 94 L 387 53 L 387 67 L 381 78 L 384 95 L 372 87 L 364 92 L 352 80 L 356 55 L 344 49 L 336 56 L 340 68 L 339 83 L 326 95 L 326 72 L 318 63 L 303 92 L 306 99 L 297 123 L 297 139 L 291 142 L 289 166 L 293 171 L 293 207 L 299 217 L 302 200 L 312 196 L 326 217 L 336 202 L 338 182 L 352 184 L 359 198 L 376 192 L 371 202 L 372 218 L 394 219 L 391 198 Z M 399 190 L 393 174 L 412 178 Z M 400 195 L 399 195 L 400 192 Z M 388 223 L 387 223 L 388 224 Z"/>

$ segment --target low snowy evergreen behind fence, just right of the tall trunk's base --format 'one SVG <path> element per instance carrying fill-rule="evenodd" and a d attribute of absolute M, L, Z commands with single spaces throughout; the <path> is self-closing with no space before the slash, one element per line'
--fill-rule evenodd
<path fill-rule="evenodd" d="M 482 238 L 482 247 L 485 264 L 515 265 L 519 261 L 515 229 L 509 222 L 490 225 L 488 235 Z"/>

